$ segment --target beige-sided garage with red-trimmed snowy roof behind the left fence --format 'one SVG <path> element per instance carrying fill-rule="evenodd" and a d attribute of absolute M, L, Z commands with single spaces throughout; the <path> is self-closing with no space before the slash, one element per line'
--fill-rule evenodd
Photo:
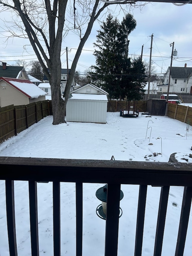
<path fill-rule="evenodd" d="M 29 80 L 0 77 L 0 107 L 44 101 L 46 94 Z"/>

